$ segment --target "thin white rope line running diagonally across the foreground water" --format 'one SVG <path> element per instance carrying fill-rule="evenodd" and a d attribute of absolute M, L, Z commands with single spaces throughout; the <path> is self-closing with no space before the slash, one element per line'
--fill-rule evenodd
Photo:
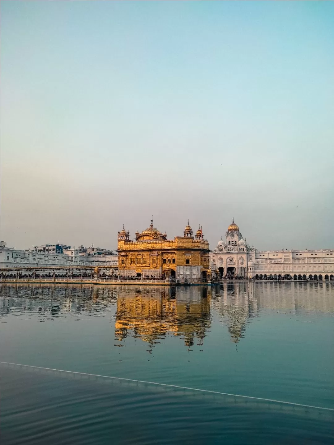
<path fill-rule="evenodd" d="M 334 411 L 333 408 L 324 408 L 322 406 L 303 405 L 301 403 L 285 402 L 282 400 L 274 400 L 274 399 L 265 399 L 263 397 L 243 396 L 241 394 L 230 394 L 229 392 L 212 391 L 210 389 L 188 388 L 187 386 L 172 385 L 172 384 L 168 384 L 168 383 L 148 382 L 146 380 L 126 379 L 125 377 L 102 376 L 100 374 L 90 374 L 88 372 L 77 372 L 77 371 L 66 371 L 65 369 L 43 368 L 42 366 L 32 366 L 30 364 L 9 363 L 9 362 L 2 362 L 2 361 L 0 361 L 0 363 L 1 364 L 11 364 L 11 365 L 15 365 L 15 366 L 24 366 L 26 368 L 46 369 L 47 371 L 68 372 L 69 374 L 80 374 L 83 376 L 103 377 L 105 379 L 126 380 L 129 382 L 148 383 L 151 385 L 159 385 L 159 386 L 169 386 L 171 388 L 189 389 L 191 391 L 200 391 L 200 392 L 209 392 L 209 393 L 213 393 L 213 394 L 221 394 L 222 396 L 243 397 L 244 399 L 253 399 L 253 400 L 262 400 L 262 401 L 266 401 L 266 402 L 284 403 L 285 405 L 302 406 L 304 408 L 326 409 L 327 411 Z"/>

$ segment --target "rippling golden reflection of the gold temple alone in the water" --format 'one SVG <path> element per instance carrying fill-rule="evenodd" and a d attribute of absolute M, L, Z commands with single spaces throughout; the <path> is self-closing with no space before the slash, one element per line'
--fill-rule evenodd
<path fill-rule="evenodd" d="M 150 344 L 161 343 L 167 334 L 182 336 L 186 346 L 203 343 L 211 326 L 211 292 L 207 287 L 138 288 L 119 295 L 115 336 L 122 341 L 131 335 Z"/>

